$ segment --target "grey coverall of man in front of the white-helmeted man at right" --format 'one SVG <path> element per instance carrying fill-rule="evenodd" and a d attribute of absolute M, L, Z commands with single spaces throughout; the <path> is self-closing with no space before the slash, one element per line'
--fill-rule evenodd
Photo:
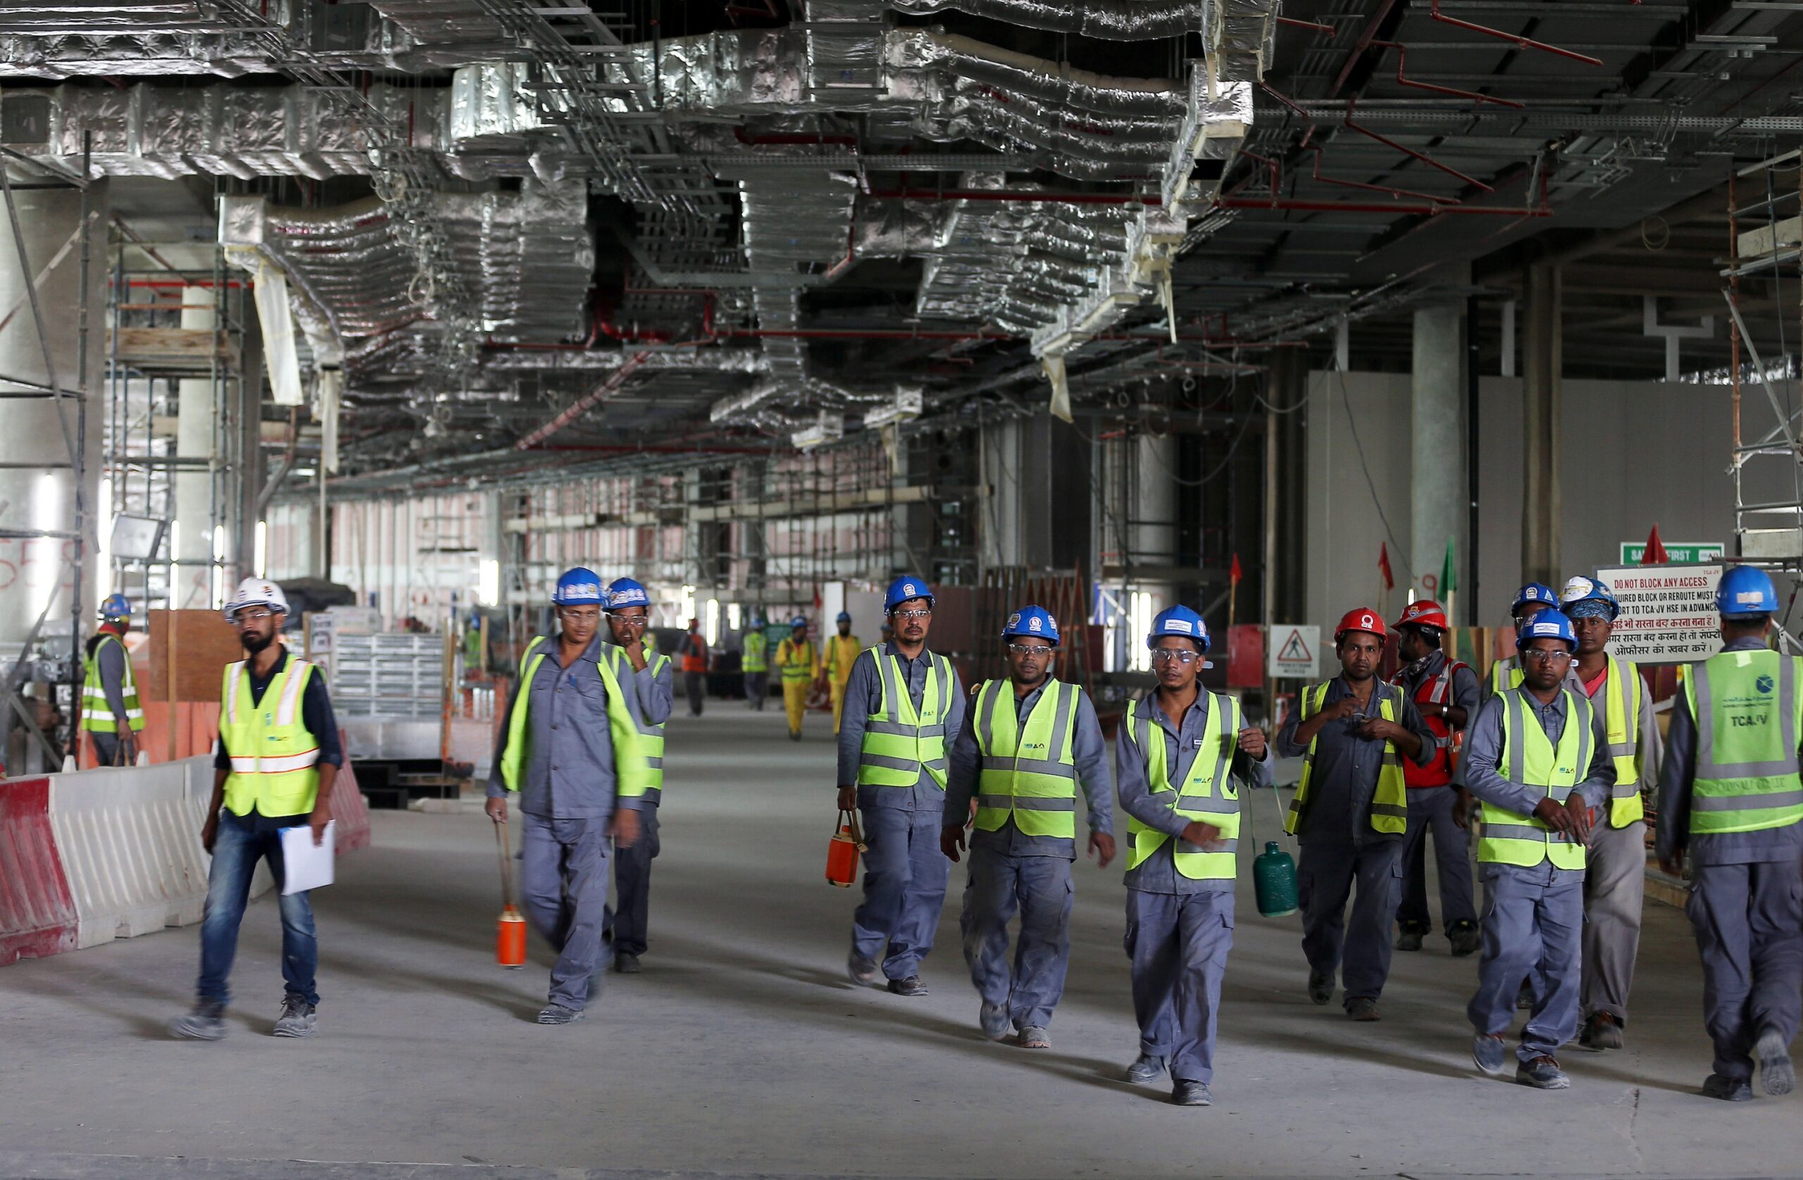
<path fill-rule="evenodd" d="M 1583 693 L 1576 696 L 1583 700 Z M 1493 693 L 1466 731 L 1466 788 L 1484 803 L 1533 816 L 1547 797 L 1547 788 L 1504 776 L 1506 767 L 1498 765 L 1506 754 L 1504 704 L 1506 698 Z M 1527 695 L 1527 704 L 1556 749 L 1570 722 L 1565 693 L 1547 705 Z M 1590 765 L 1572 794 L 1588 807 L 1606 807 L 1614 781 L 1615 769 L 1608 751 L 1592 734 Z M 1556 868 L 1547 857 L 1533 868 L 1478 864 L 1478 871 L 1484 879 L 1484 956 L 1477 965 L 1477 994 L 1466 1005 L 1466 1016 L 1480 1034 L 1506 1032 L 1515 1023 L 1515 998 L 1522 991 L 1522 980 L 1533 974 L 1534 1010 L 1522 1028 L 1516 1056 L 1522 1061 L 1552 1057 L 1560 1045 L 1578 1036 L 1583 870 Z"/>

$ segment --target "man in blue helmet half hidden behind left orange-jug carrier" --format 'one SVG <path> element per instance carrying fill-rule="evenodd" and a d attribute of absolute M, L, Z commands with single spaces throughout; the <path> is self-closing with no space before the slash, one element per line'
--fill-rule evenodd
<path fill-rule="evenodd" d="M 638 974 L 638 956 L 645 953 L 645 920 L 651 908 L 651 862 L 660 852 L 658 805 L 664 801 L 664 725 L 674 709 L 671 657 L 645 655 L 645 622 L 651 595 L 631 577 L 608 585 L 608 633 L 613 639 L 615 678 L 620 682 L 626 711 L 638 731 L 638 751 L 645 758 L 645 794 L 638 808 L 638 839 L 617 848 L 613 888 L 620 895 L 613 924 L 604 940 L 613 947 L 613 969 Z"/>

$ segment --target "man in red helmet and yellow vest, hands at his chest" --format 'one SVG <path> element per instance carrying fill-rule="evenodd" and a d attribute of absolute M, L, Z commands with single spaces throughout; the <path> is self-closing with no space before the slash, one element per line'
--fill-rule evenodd
<path fill-rule="evenodd" d="M 1426 765 L 1437 749 L 1408 695 L 1377 678 L 1385 639 L 1376 610 L 1349 610 L 1334 628 L 1340 675 L 1302 689 L 1300 707 L 1277 738 L 1278 754 L 1304 758 L 1284 830 L 1302 844 L 1296 880 L 1309 1000 L 1334 998 L 1343 958 L 1345 1010 L 1361 1021 L 1379 1019 L 1377 996 L 1390 974 L 1390 922 L 1408 830 L 1403 758 Z"/>

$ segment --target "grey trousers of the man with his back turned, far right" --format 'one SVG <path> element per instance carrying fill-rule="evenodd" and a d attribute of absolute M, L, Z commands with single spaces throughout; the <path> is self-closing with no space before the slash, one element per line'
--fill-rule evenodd
<path fill-rule="evenodd" d="M 1796 859 L 1706 864 L 1689 913 L 1702 956 L 1702 1019 L 1715 1072 L 1753 1075 L 1753 1043 L 1767 1027 L 1789 1045 L 1803 1009 L 1803 866 Z"/>

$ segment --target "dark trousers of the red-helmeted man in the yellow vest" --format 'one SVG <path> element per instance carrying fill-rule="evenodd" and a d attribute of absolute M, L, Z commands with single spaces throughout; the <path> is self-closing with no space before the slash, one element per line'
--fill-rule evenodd
<path fill-rule="evenodd" d="M 1309 967 L 1331 976 L 1343 963 L 1349 1005 L 1381 996 L 1390 976 L 1390 922 L 1403 886 L 1403 841 L 1304 844 L 1296 882 Z"/>

